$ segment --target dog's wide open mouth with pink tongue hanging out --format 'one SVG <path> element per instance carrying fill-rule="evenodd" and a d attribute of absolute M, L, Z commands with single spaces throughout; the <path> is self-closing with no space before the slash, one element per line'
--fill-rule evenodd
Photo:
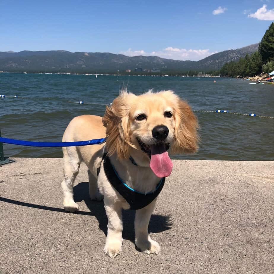
<path fill-rule="evenodd" d="M 170 144 L 158 142 L 156 144 L 147 145 L 138 139 L 139 146 L 143 152 L 148 154 L 150 158 L 150 168 L 154 174 L 159 177 L 167 177 L 171 174 L 173 163 L 168 155 Z"/>

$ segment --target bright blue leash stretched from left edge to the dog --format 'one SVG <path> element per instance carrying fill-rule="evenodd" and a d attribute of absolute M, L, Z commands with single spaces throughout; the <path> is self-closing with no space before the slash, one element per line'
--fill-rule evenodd
<path fill-rule="evenodd" d="M 88 145 L 101 145 L 106 141 L 106 138 L 93 139 L 90 141 L 79 141 L 79 142 L 32 142 L 15 140 L 0 137 L 0 143 L 14 144 L 19 146 L 43 146 L 43 147 L 61 147 L 61 146 L 88 146 Z"/>

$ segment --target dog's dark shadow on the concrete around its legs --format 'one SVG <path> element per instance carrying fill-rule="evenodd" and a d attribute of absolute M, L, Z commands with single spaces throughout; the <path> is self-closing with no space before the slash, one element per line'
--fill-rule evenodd
<path fill-rule="evenodd" d="M 107 235 L 107 216 L 104 208 L 103 201 L 93 201 L 90 199 L 88 194 L 88 182 L 81 182 L 73 188 L 74 201 L 81 202 L 84 201 L 89 208 L 93 216 L 98 220 L 99 228 Z M 123 239 L 135 242 L 134 234 L 134 218 L 135 211 L 133 210 L 123 210 Z M 165 230 L 171 229 L 172 226 L 171 216 L 162 215 L 151 215 L 148 231 L 149 233 L 158 233 Z"/>

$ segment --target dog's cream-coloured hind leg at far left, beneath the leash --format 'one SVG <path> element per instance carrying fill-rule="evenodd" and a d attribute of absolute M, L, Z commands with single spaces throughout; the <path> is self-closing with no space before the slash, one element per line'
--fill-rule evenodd
<path fill-rule="evenodd" d="M 79 206 L 73 199 L 73 184 L 79 172 L 81 159 L 77 153 L 76 147 L 63 147 L 63 165 L 64 165 L 64 179 L 62 188 L 64 192 L 64 209 L 68 212 L 75 212 L 79 210 Z"/>

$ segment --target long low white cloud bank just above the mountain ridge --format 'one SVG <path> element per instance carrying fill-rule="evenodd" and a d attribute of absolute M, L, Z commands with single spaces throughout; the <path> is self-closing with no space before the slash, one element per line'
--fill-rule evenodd
<path fill-rule="evenodd" d="M 152 52 L 145 52 L 144 50 L 131 50 L 128 49 L 127 51 L 120 52 L 120 54 L 124 54 L 127 56 L 136 56 L 136 55 L 144 55 L 144 56 L 158 56 L 161 58 L 166 59 L 173 59 L 173 60 L 192 60 L 198 61 L 203 58 L 212 55 L 215 52 L 210 52 L 208 49 L 205 50 L 192 50 L 192 49 L 179 49 L 176 47 L 167 47 L 160 51 L 152 51 Z"/>

